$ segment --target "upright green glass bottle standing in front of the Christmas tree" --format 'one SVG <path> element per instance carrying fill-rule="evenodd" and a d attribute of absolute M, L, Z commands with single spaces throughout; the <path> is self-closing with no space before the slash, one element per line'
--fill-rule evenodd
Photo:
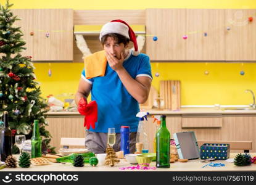
<path fill-rule="evenodd" d="M 39 133 L 38 122 L 38 120 L 34 120 L 33 136 L 31 138 L 31 158 L 42 156 L 42 139 Z"/>

